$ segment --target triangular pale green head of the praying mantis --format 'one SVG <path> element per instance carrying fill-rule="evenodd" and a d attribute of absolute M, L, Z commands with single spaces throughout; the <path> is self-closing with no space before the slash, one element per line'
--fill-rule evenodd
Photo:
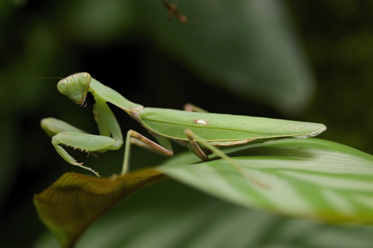
<path fill-rule="evenodd" d="M 89 73 L 76 73 L 61 79 L 57 83 L 57 89 L 65 96 L 69 97 L 74 103 L 85 106 L 85 97 L 91 83 Z"/>

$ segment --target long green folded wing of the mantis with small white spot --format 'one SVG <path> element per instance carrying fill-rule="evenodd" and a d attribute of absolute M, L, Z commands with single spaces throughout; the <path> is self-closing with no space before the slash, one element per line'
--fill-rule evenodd
<path fill-rule="evenodd" d="M 308 138 L 326 130 L 326 126 L 320 123 L 150 107 L 140 110 L 138 117 L 150 131 L 179 140 L 186 140 L 184 130 L 187 128 L 212 142 L 285 136 Z"/>

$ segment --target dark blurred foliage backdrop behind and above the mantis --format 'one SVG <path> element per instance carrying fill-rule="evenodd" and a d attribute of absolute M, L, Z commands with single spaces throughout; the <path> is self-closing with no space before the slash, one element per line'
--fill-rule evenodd
<path fill-rule="evenodd" d="M 373 154 L 372 1 L 179 0 L 177 7 L 191 23 L 169 22 L 159 0 L 0 2 L 0 246 L 32 243 L 44 230 L 33 194 L 66 171 L 85 173 L 57 155 L 40 119 L 97 132 L 91 105 L 74 106 L 56 79 L 35 78 L 87 71 L 144 106 L 191 102 L 324 123 L 321 138 Z M 123 131 L 143 132 L 113 112 Z M 132 168 L 164 159 L 133 150 Z M 88 158 L 90 166 L 111 175 L 120 151 Z"/>

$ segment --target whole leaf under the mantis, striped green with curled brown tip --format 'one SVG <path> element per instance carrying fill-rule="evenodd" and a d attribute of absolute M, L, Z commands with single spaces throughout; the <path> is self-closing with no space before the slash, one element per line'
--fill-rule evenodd
<path fill-rule="evenodd" d="M 157 171 L 134 171 L 115 180 L 66 173 L 35 196 L 35 206 L 42 221 L 68 247 L 95 218 L 139 187 L 162 178 L 159 171 L 163 171 L 250 209 L 327 222 L 373 223 L 372 155 L 317 138 L 278 139 L 224 151 L 241 169 L 226 160 L 195 164 L 199 159 L 186 152 L 166 160 Z"/>

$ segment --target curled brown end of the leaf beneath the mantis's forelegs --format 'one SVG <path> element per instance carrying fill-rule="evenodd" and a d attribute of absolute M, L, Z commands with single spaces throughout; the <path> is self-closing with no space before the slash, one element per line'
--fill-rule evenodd
<path fill-rule="evenodd" d="M 112 178 L 65 173 L 48 189 L 34 196 L 34 205 L 39 218 L 57 236 L 62 247 L 71 247 L 82 231 L 103 212 L 163 177 L 154 169 Z"/>

